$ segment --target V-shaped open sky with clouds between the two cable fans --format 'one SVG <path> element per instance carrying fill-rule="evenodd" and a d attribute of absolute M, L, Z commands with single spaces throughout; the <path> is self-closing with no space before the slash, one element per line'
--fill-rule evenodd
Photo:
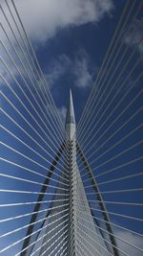
<path fill-rule="evenodd" d="M 32 14 L 33 1 L 17 2 L 55 104 L 65 116 L 72 87 L 75 103 L 80 103 L 75 105 L 77 121 L 125 3 L 93 2 L 61 1 L 59 7 L 56 0 L 36 1 Z"/>

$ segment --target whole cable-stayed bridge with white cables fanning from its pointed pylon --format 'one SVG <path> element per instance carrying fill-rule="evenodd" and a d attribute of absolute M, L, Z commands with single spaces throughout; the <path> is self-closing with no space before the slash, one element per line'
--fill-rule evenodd
<path fill-rule="evenodd" d="M 143 255 L 143 1 L 125 2 L 77 125 L 3 2 L 0 255 Z"/>

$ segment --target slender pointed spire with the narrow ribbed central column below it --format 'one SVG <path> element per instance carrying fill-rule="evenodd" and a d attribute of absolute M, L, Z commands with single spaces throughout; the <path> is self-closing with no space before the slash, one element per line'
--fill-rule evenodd
<path fill-rule="evenodd" d="M 70 172 L 70 209 L 69 209 L 69 245 L 68 255 L 75 254 L 75 233 L 76 233 L 76 125 L 72 102 L 72 90 L 70 90 L 69 105 L 67 108 L 65 129 L 68 135 L 67 145 L 69 152 Z"/>

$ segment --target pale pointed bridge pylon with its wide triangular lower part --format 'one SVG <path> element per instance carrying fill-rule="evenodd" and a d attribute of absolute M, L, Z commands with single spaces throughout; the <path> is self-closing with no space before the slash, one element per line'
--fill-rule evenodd
<path fill-rule="evenodd" d="M 74 109 L 72 103 L 72 90 L 70 90 L 70 100 L 67 108 L 66 124 L 65 129 L 67 136 L 65 138 L 65 147 L 67 148 L 65 153 L 66 163 L 69 162 L 69 169 L 65 164 L 65 174 L 69 174 L 69 181 L 65 186 L 59 183 L 53 201 L 51 202 L 50 211 L 46 215 L 46 221 L 43 222 L 43 228 L 37 236 L 37 242 L 34 243 L 32 249 L 27 250 L 31 244 L 31 231 L 32 222 L 30 228 L 27 232 L 28 239 L 25 240 L 23 244 L 23 252 L 21 255 L 32 255 L 32 251 L 37 252 L 36 255 L 118 255 L 117 246 L 111 234 L 110 238 L 108 236 L 103 236 L 102 228 L 95 221 L 95 217 L 92 216 L 92 210 L 80 172 L 76 163 L 77 151 L 79 152 L 82 161 L 85 165 L 85 172 L 92 172 L 86 158 L 79 148 L 76 141 L 76 124 L 74 117 Z M 62 153 L 62 152 L 61 152 Z M 60 155 L 58 155 L 60 158 Z M 59 160 L 56 159 L 56 163 Z M 56 169 L 56 164 L 53 165 L 53 170 Z M 90 170 L 90 171 L 89 171 Z M 89 173 L 92 178 L 92 173 Z M 61 180 L 64 177 L 64 172 L 61 175 Z M 65 176 L 66 177 L 66 176 Z M 95 183 L 95 180 L 94 180 Z M 65 201 L 61 205 L 60 196 L 61 188 L 69 187 L 69 193 L 65 196 Z M 99 194 L 97 184 L 95 186 L 95 192 Z M 40 195 L 37 202 L 41 201 L 44 196 Z M 103 210 L 103 219 L 109 221 L 107 213 L 105 213 L 104 202 L 99 195 L 97 195 L 100 203 L 101 211 Z M 39 205 L 39 203 L 38 203 Z M 36 206 L 35 206 L 36 207 Z M 40 208 L 40 206 L 39 206 Z M 35 209 L 33 210 L 35 212 Z M 36 219 L 36 216 L 34 215 Z M 34 220 L 35 221 L 35 220 Z M 107 230 L 112 232 L 112 227 L 107 224 Z M 108 242 L 108 243 L 107 243 Z M 40 249 L 39 249 L 40 248 Z"/>

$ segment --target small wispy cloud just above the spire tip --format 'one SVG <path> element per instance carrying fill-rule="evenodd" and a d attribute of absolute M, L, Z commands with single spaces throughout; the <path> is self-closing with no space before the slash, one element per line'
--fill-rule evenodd
<path fill-rule="evenodd" d="M 63 54 L 53 59 L 46 74 L 50 87 L 60 78 L 68 75 L 77 87 L 86 88 L 92 84 L 91 58 L 85 50 L 80 50 L 73 58 Z"/>

